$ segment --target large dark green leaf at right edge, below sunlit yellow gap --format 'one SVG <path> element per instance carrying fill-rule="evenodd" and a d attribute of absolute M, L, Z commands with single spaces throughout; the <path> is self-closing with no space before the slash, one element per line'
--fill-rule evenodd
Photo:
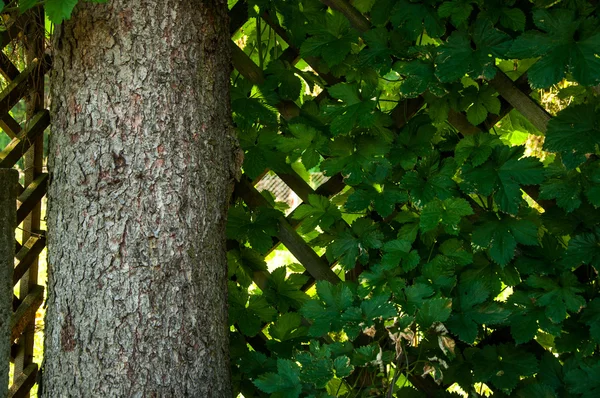
<path fill-rule="evenodd" d="M 548 122 L 544 149 L 575 157 L 577 161 L 565 165 L 573 169 L 585 161 L 586 153 L 593 153 L 600 144 L 600 112 L 593 105 L 569 106 Z M 564 163 L 564 159 L 563 159 Z"/>

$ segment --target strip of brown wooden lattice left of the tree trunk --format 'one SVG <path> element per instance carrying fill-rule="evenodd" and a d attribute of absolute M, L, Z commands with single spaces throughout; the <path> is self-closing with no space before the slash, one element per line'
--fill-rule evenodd
<path fill-rule="evenodd" d="M 10 361 L 14 364 L 9 397 L 27 397 L 36 381 L 38 367 L 33 362 L 35 315 L 44 298 L 44 288 L 38 285 L 38 256 L 46 246 L 45 232 L 40 229 L 41 200 L 46 194 L 48 173 L 43 171 L 43 134 L 50 124 L 44 109 L 44 75 L 49 58 L 44 56 L 45 28 L 41 7 L 10 18 L 7 29 L 0 34 L 2 49 L 22 49 L 25 68 L 19 70 L 5 53 L 0 53 L 0 73 L 8 83 L 0 93 L 0 128 L 12 140 L 0 152 L 0 169 L 12 168 L 23 160 L 21 183 L 17 186 L 16 223 L 21 225 L 14 241 L 15 266 L 10 319 Z M 9 51 L 6 51 L 9 53 Z M 17 122 L 10 111 L 24 101 L 26 120 Z M 21 185 L 22 184 L 22 185 Z M 2 189 L 8 189 L 2 187 Z M 5 321 L 5 320 L 3 320 Z"/>

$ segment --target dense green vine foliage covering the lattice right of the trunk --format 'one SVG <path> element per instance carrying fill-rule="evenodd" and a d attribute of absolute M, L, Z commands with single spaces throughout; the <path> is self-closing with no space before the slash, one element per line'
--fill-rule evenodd
<path fill-rule="evenodd" d="M 232 75 L 245 176 L 343 186 L 288 216 L 339 283 L 313 286 L 296 263 L 268 271 L 284 210 L 268 191 L 231 208 L 237 390 L 600 394 L 597 6 L 243 7 L 233 38 L 262 73 Z"/>

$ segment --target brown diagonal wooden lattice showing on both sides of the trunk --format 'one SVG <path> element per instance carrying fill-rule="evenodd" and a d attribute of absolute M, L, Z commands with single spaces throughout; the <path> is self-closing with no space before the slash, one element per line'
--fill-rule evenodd
<path fill-rule="evenodd" d="M 326 5 L 345 15 L 352 26 L 360 33 L 368 31 L 370 22 L 354 9 L 346 0 L 322 0 Z M 235 34 L 248 20 L 248 5 L 245 1 L 238 3 L 230 11 L 230 33 Z M 300 60 L 299 49 L 296 48 L 286 33 L 278 25 L 277 19 L 263 12 L 260 16 L 288 44 L 287 49 L 279 57 L 280 60 L 295 64 Z M 0 34 L 0 46 L 16 43 L 26 48 L 26 68 L 20 71 L 9 59 L 0 53 L 0 73 L 9 82 L 0 93 L 0 128 L 8 134 L 12 141 L 0 152 L 0 168 L 12 168 L 20 159 L 24 159 L 24 179 L 18 186 L 17 223 L 22 223 L 22 244 L 15 242 L 16 261 L 13 269 L 13 286 L 19 286 L 19 297 L 14 297 L 14 313 L 11 320 L 11 361 L 14 362 L 14 382 L 9 396 L 28 396 L 37 375 L 37 365 L 33 363 L 33 336 L 35 313 L 43 300 L 43 288 L 38 285 L 37 257 L 45 247 L 45 233 L 40 230 L 40 201 L 46 193 L 48 174 L 43 171 L 43 132 L 49 125 L 48 111 L 44 109 L 44 74 L 49 69 L 49 59 L 44 56 L 44 19 L 41 9 L 15 17 L 9 21 L 8 29 Z M 231 42 L 232 61 L 235 69 L 248 81 L 259 85 L 264 82 L 262 69 L 256 65 L 233 41 Z M 314 59 L 304 59 L 319 76 L 333 85 L 338 80 L 319 69 Z M 489 130 L 512 109 L 519 111 L 541 132 L 546 131 L 546 124 L 551 116 L 530 96 L 531 89 L 527 79 L 522 76 L 512 81 L 501 71 L 490 81 L 490 85 L 499 93 L 502 108 L 499 115 L 490 115 L 480 126 L 470 124 L 462 113 L 451 111 L 449 122 L 463 135 L 474 134 L 482 129 Z M 324 92 L 322 96 L 325 96 Z M 27 122 L 20 126 L 9 114 L 10 110 L 22 99 L 27 107 Z M 392 111 L 395 126 L 401 129 L 406 122 L 423 106 L 422 98 L 402 101 Z M 291 119 L 301 113 L 300 108 L 291 101 L 278 104 L 281 117 Z M 332 197 L 341 192 L 346 185 L 343 177 L 336 175 L 313 189 L 293 171 L 277 173 L 278 177 L 293 190 L 302 201 L 308 201 L 310 194 Z M 236 186 L 236 195 L 241 197 L 250 208 L 269 207 L 270 204 L 255 189 L 257 181 L 243 178 Z M 535 187 L 527 187 L 528 194 L 536 199 Z M 544 207 L 553 206 L 551 201 L 543 202 Z M 332 270 L 335 264 L 325 256 L 319 256 L 312 247 L 296 232 L 297 222 L 292 216 L 279 218 L 278 241 L 273 242 L 273 249 L 283 244 L 304 266 L 310 277 L 304 287 L 308 289 L 316 280 L 337 283 L 341 279 Z M 1 263 L 1 262 L 0 262 Z M 360 271 L 349 273 L 346 279 L 356 279 Z M 265 288 L 268 275 L 265 271 L 255 272 L 254 282 Z M 249 339 L 257 351 L 265 350 L 267 337 L 259 334 Z M 1 347 L 1 345 L 0 345 Z M 1 368 L 1 367 L 0 367 Z M 443 388 L 430 379 L 411 376 L 413 385 L 424 392 L 434 393 Z M 1 390 L 0 390 L 1 391 Z"/>

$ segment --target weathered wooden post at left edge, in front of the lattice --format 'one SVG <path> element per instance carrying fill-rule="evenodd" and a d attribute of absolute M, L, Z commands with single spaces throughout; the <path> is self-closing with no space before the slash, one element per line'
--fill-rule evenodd
<path fill-rule="evenodd" d="M 8 395 L 18 181 L 17 170 L 0 169 L 0 397 Z"/>

